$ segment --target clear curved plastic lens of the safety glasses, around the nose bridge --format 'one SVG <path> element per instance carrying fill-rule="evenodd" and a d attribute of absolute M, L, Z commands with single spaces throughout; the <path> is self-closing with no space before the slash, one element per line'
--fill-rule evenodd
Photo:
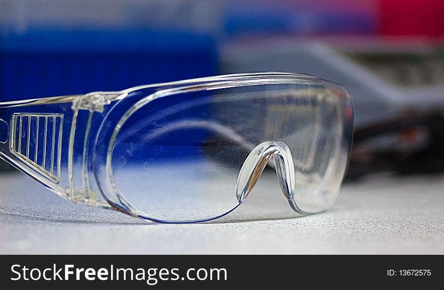
<path fill-rule="evenodd" d="M 154 98 L 121 125 L 111 155 L 113 183 L 145 218 L 212 219 L 239 205 L 236 182 L 250 152 L 265 141 L 284 142 L 294 163 L 296 204 L 304 212 L 325 210 L 347 163 L 347 101 L 321 85 L 295 84 Z M 263 178 L 274 167 L 268 162 Z M 257 192 L 285 200 L 279 182 L 258 182 L 250 194 Z"/>

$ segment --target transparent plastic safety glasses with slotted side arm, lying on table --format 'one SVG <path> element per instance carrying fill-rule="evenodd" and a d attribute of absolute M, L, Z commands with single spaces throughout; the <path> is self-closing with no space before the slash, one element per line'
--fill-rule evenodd
<path fill-rule="evenodd" d="M 343 86 L 289 73 L 0 103 L 2 159 L 72 201 L 164 223 L 219 218 L 256 191 L 324 211 L 352 130 Z"/>

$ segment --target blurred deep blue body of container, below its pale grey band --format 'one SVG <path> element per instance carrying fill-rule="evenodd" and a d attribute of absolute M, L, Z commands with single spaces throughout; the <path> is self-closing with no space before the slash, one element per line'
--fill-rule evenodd
<path fill-rule="evenodd" d="M 218 70 L 213 38 L 193 32 L 28 30 L 1 41 L 1 101 L 122 90 Z"/>

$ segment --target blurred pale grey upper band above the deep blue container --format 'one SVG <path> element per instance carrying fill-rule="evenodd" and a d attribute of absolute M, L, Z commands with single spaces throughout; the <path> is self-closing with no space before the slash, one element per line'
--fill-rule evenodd
<path fill-rule="evenodd" d="M 50 9 L 48 9 L 50 7 Z M 36 27 L 65 29 L 180 29 L 213 33 L 220 1 L 156 0 L 2 0 L 0 32 Z M 183 17 L 183 15 L 190 17 Z"/>

